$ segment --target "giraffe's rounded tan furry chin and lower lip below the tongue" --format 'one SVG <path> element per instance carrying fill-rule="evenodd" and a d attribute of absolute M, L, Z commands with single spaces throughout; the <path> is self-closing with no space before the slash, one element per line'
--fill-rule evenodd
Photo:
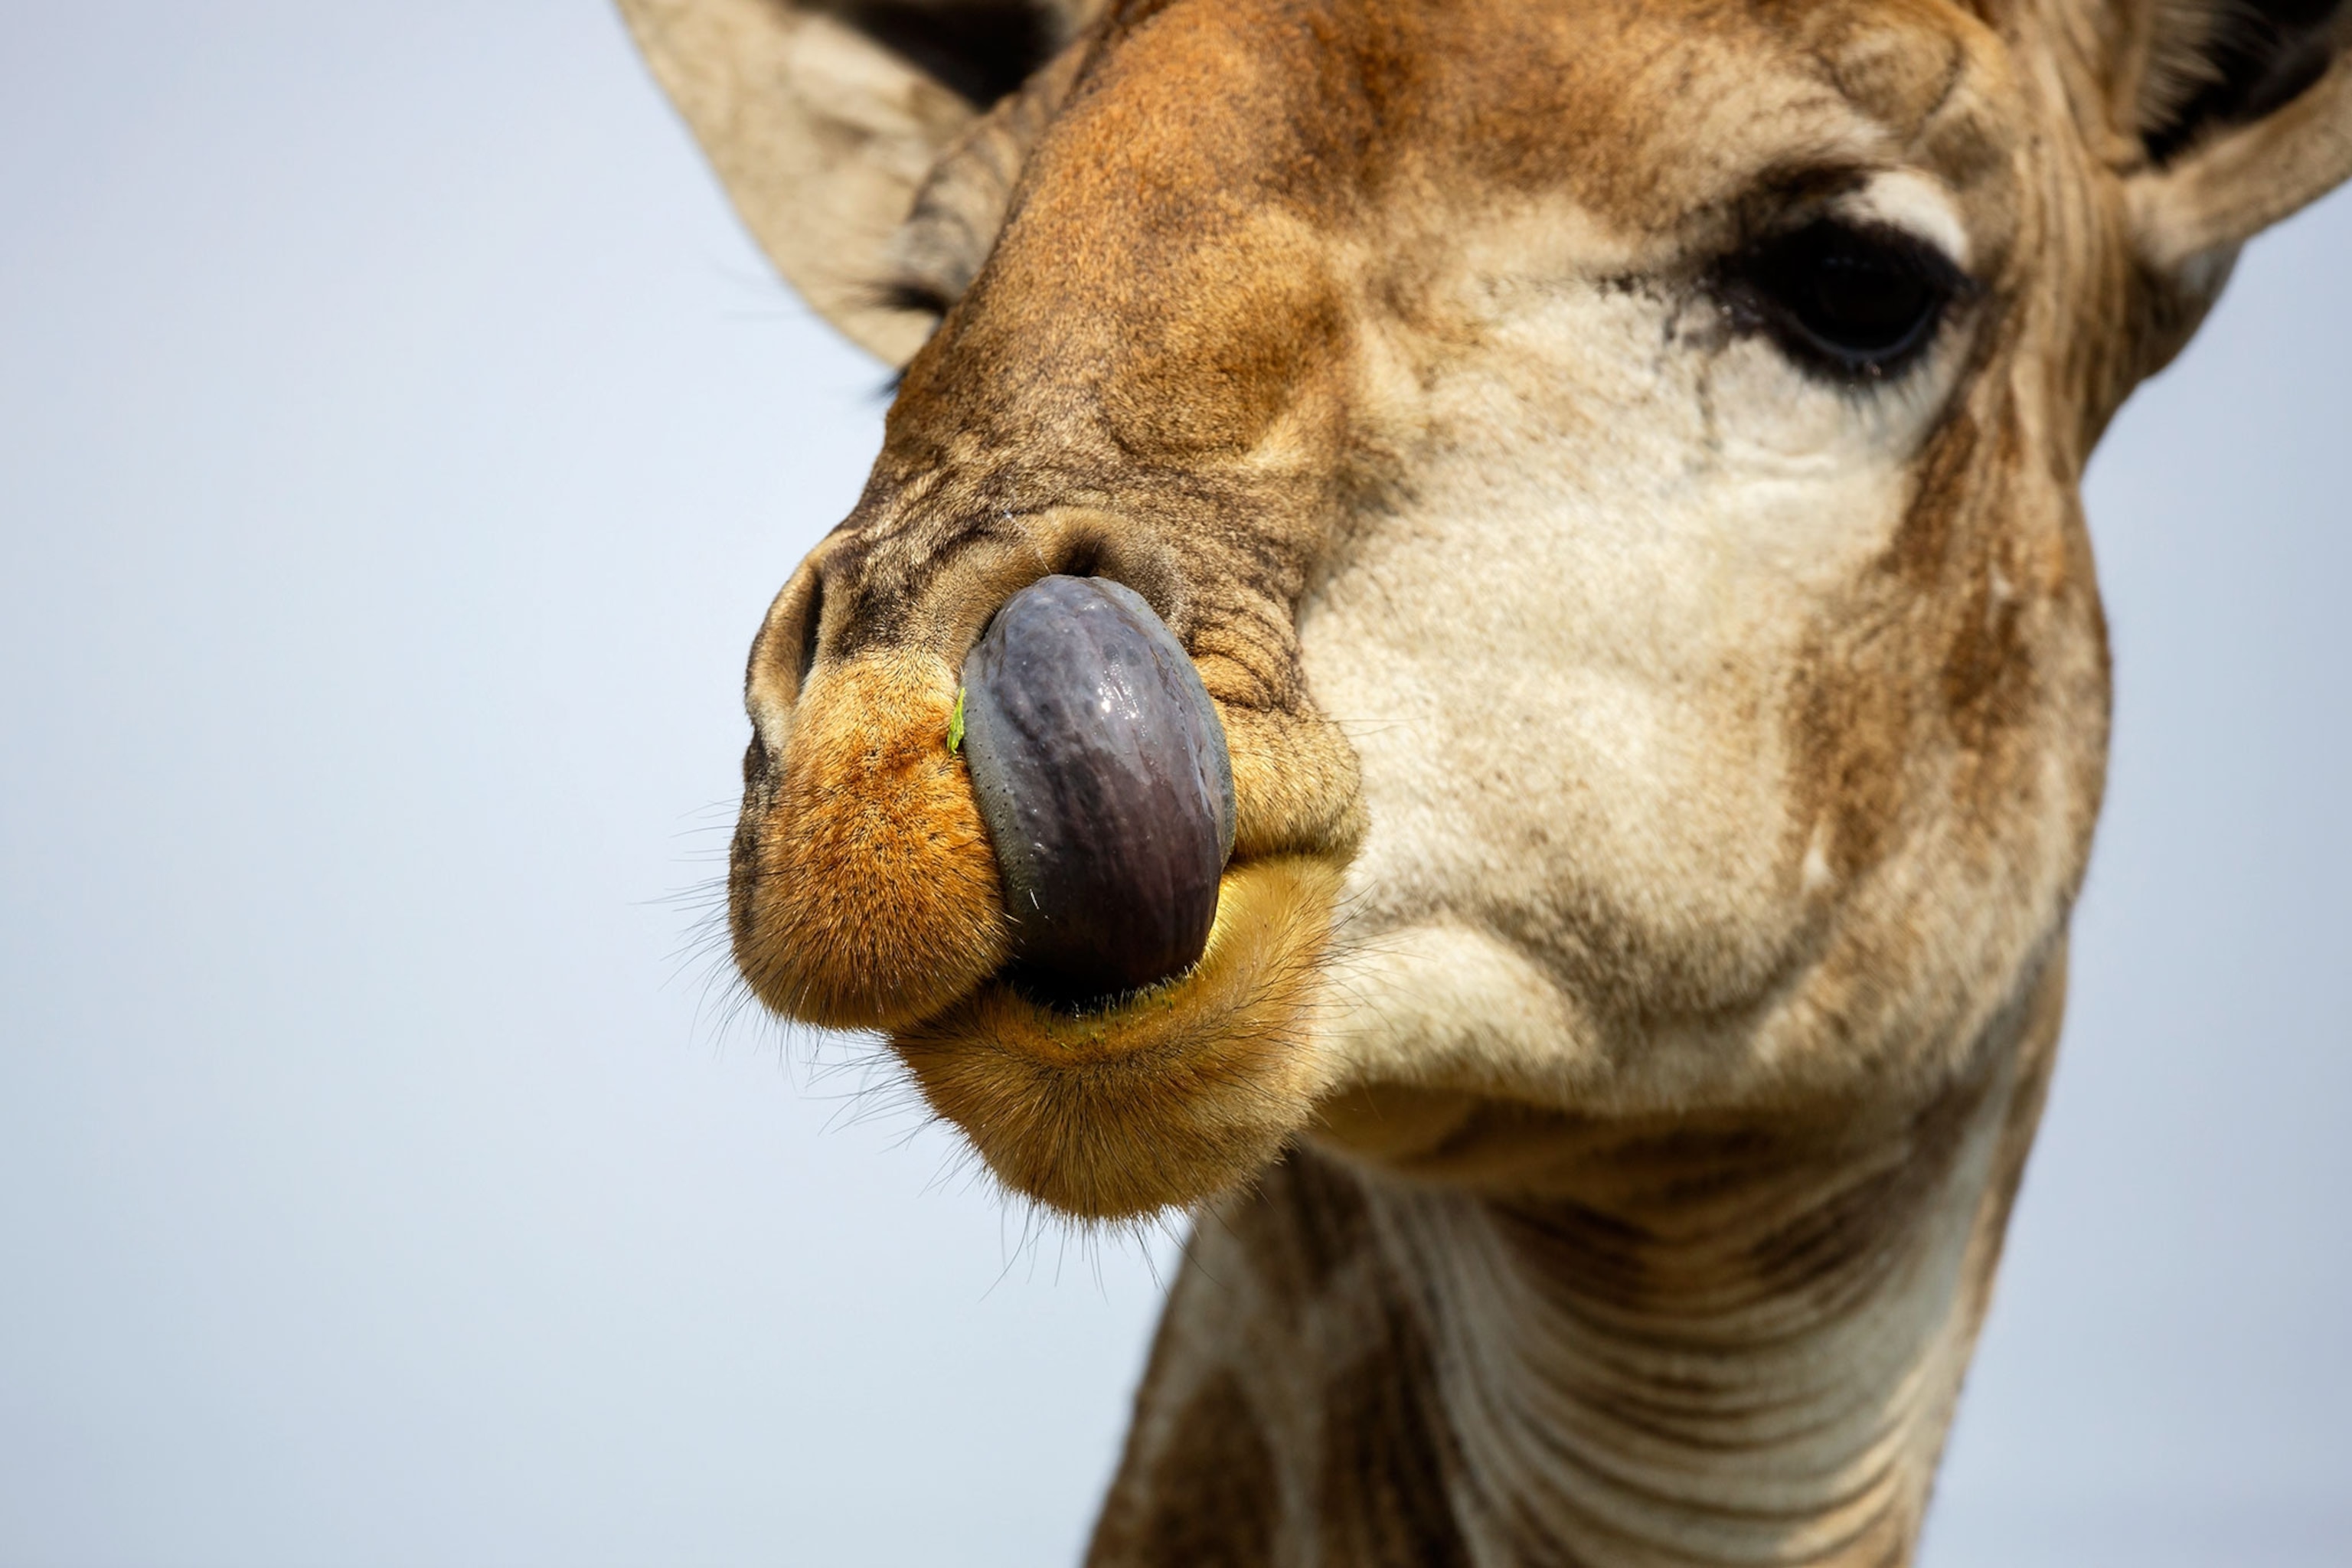
<path fill-rule="evenodd" d="M 1308 856 L 1225 870 L 1183 976 L 1068 1013 L 1002 976 L 891 1046 L 931 1110 L 1016 1192 L 1120 1220 L 1247 1182 L 1315 1112 L 1317 966 L 1341 870 Z"/>

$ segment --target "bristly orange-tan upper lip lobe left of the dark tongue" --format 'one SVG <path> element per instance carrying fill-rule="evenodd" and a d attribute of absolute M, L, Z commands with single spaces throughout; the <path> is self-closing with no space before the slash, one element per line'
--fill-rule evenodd
<path fill-rule="evenodd" d="M 889 1030 L 1004 961 L 1004 900 L 962 762 L 955 672 L 884 649 L 818 668 L 781 776 L 746 790 L 731 914 L 743 978 L 779 1013 Z"/>

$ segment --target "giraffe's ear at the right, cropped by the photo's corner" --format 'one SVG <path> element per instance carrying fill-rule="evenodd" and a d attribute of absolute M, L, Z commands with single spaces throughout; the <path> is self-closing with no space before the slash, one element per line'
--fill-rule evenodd
<path fill-rule="evenodd" d="M 2220 287 L 2237 247 L 2352 176 L 2352 2 L 2140 0 L 2126 181 L 2157 277 Z"/>

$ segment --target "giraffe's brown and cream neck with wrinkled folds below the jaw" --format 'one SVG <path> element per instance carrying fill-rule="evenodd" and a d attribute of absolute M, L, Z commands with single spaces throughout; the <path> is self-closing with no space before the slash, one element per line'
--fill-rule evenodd
<path fill-rule="evenodd" d="M 1910 1561 L 2046 1065 L 1797 1124 L 1486 1105 L 1479 1187 L 1296 1152 L 1197 1225 L 1089 1561 Z"/>

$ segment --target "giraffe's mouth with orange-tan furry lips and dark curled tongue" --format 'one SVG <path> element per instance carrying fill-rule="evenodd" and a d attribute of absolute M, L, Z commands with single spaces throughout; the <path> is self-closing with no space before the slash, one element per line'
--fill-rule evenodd
<path fill-rule="evenodd" d="M 1345 853 L 1228 860 L 1223 726 L 1167 628 L 1141 599 L 1120 614 L 1136 609 L 1167 646 L 1094 665 L 1117 679 L 1077 679 L 1087 661 L 1061 651 L 1011 661 L 1018 691 L 976 656 L 908 646 L 821 668 L 755 743 L 729 875 L 762 1001 L 884 1032 L 1007 1187 L 1084 1218 L 1249 1180 L 1329 1077 L 1319 971 Z M 1134 654 L 1129 630 L 1112 654 Z M 1120 682 L 1145 691 L 1103 719 Z"/>

